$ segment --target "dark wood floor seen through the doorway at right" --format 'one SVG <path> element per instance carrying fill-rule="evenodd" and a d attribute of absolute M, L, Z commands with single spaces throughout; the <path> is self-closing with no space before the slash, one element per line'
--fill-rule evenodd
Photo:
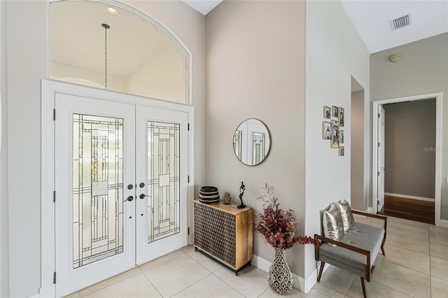
<path fill-rule="evenodd" d="M 433 201 L 384 196 L 384 207 L 379 213 L 395 218 L 434 224 L 434 208 Z"/>

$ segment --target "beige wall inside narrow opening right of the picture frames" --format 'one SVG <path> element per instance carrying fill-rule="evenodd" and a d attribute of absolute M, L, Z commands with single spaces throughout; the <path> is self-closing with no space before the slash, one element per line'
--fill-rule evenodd
<path fill-rule="evenodd" d="M 351 208 L 365 211 L 368 207 L 368 188 L 364 187 L 364 90 L 351 92 Z"/>

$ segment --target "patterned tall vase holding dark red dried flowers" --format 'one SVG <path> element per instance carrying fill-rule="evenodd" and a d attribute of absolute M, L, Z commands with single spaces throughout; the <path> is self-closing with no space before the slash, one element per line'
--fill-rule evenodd
<path fill-rule="evenodd" d="M 290 210 L 279 208 L 278 197 L 273 187 L 267 183 L 261 187 L 264 193 L 258 197 L 264 201 L 263 212 L 257 215 L 255 230 L 265 236 L 266 242 L 275 248 L 274 261 L 269 267 L 267 281 L 269 287 L 279 294 L 286 294 L 293 288 L 293 275 L 285 258 L 285 250 L 296 244 L 316 244 L 309 236 L 297 236 L 295 233 L 295 216 Z"/>

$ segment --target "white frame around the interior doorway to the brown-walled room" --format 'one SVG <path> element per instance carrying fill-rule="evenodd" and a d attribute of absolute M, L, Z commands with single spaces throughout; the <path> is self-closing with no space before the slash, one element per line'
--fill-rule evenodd
<path fill-rule="evenodd" d="M 383 104 L 395 104 L 403 101 L 414 101 L 414 100 L 422 100 L 422 99 L 432 99 L 435 98 L 435 225 L 440 226 L 440 200 L 442 196 L 442 92 L 437 93 L 429 93 L 429 94 L 420 94 L 413 95 L 410 97 L 396 97 L 393 99 L 382 99 L 378 101 L 373 101 L 373 135 L 372 135 L 372 210 L 374 213 L 377 213 L 377 172 L 378 169 L 378 122 L 377 119 L 377 111 L 378 106 Z"/>

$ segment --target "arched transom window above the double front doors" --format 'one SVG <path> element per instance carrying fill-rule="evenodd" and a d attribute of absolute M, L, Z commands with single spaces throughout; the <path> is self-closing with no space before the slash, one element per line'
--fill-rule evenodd
<path fill-rule="evenodd" d="M 123 2 L 50 3 L 52 79 L 188 104 L 189 57 L 165 27 Z"/>

